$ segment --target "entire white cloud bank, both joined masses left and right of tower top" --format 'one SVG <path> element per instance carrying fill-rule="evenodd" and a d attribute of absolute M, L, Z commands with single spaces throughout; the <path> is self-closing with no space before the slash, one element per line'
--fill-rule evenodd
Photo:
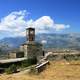
<path fill-rule="evenodd" d="M 0 31 L 3 31 L 3 37 L 25 36 L 25 29 L 28 27 L 36 28 L 36 33 L 52 33 L 70 27 L 65 24 L 55 24 L 50 16 L 42 16 L 37 20 L 25 20 L 28 14 L 29 12 L 22 10 L 12 12 L 2 18 L 0 21 Z"/>

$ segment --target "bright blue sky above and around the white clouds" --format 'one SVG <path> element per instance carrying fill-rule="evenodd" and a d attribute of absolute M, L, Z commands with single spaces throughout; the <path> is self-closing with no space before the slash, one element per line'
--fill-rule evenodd
<path fill-rule="evenodd" d="M 35 22 L 38 20 L 37 22 L 39 22 L 40 19 L 43 20 L 44 18 L 47 18 L 49 22 L 51 22 L 50 20 L 53 20 L 53 22 L 58 24 L 57 26 L 59 27 L 61 25 L 64 25 L 63 27 L 69 26 L 61 32 L 80 32 L 80 0 L 0 0 L 1 26 L 3 26 L 2 24 L 4 23 L 4 21 L 1 20 L 10 15 L 12 12 L 25 12 L 24 10 L 28 14 L 28 16 L 24 17 L 26 21 L 32 20 L 32 22 Z M 60 29 L 63 29 L 63 27 Z M 1 37 L 2 35 L 6 37 L 6 34 L 10 34 L 8 31 L 2 30 L 2 28 L 0 31 Z M 60 32 L 60 30 L 53 31 Z"/>

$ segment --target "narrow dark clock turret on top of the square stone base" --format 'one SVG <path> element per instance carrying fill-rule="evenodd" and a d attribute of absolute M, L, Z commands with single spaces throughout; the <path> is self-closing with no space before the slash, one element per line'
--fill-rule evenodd
<path fill-rule="evenodd" d="M 27 33 L 27 40 L 29 42 L 35 41 L 35 29 L 34 28 L 27 28 L 26 33 Z"/>

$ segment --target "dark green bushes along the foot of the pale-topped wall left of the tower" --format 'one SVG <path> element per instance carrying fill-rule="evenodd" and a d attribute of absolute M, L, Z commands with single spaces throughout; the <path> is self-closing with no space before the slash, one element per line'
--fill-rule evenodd
<path fill-rule="evenodd" d="M 27 59 L 27 60 L 24 60 L 24 61 L 16 63 L 16 64 L 10 64 L 10 66 L 5 69 L 5 72 L 7 74 L 12 74 L 12 73 L 17 72 L 17 69 L 21 69 L 21 68 L 24 69 L 24 68 L 26 68 L 28 66 L 31 66 L 33 64 L 36 64 L 36 63 L 37 63 L 36 58 L 34 58 L 34 59 Z"/>

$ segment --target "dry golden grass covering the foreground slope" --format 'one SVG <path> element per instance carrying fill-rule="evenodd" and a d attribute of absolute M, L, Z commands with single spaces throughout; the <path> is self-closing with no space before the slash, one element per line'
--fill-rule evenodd
<path fill-rule="evenodd" d="M 39 75 L 30 75 L 25 71 L 16 74 L 2 74 L 0 80 L 80 80 L 80 60 L 51 61 Z"/>

